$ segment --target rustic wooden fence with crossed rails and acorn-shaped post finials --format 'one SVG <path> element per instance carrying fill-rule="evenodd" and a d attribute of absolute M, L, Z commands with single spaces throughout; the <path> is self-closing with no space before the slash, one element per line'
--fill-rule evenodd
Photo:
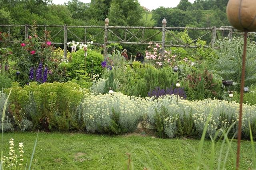
<path fill-rule="evenodd" d="M 120 44 L 134 44 L 134 45 L 148 45 L 150 41 L 152 41 L 153 37 L 156 37 L 156 35 L 159 35 L 162 33 L 162 40 L 161 41 L 154 41 L 152 44 L 161 44 L 162 45 L 162 54 L 164 53 L 164 49 L 166 47 L 186 47 L 186 48 L 197 48 L 196 45 L 191 45 L 192 43 L 195 43 L 198 39 L 201 39 L 205 37 L 206 35 L 211 33 L 211 41 L 209 45 L 205 45 L 204 48 L 214 47 L 214 43 L 216 39 L 224 38 L 224 32 L 227 35 L 229 39 L 232 38 L 233 34 L 242 34 L 238 30 L 234 29 L 233 27 L 226 26 L 226 27 L 220 27 L 217 28 L 216 26 L 213 27 L 204 27 L 204 28 L 198 28 L 198 27 L 166 27 L 166 19 L 162 20 L 162 27 L 129 27 L 129 26 L 110 26 L 108 18 L 105 20 L 104 26 L 69 26 L 69 25 L 36 25 L 37 27 L 44 27 L 45 31 L 48 31 L 49 27 L 55 27 L 60 28 L 54 35 L 51 37 L 51 40 L 54 39 L 57 35 L 60 35 L 60 33 L 64 32 L 63 40 L 62 42 L 52 42 L 52 44 L 58 44 L 58 45 L 64 45 L 64 57 L 67 56 L 67 43 L 68 43 L 68 33 L 70 33 L 73 37 L 75 37 L 78 41 L 81 43 L 86 43 L 88 41 L 91 41 L 95 37 L 101 36 L 103 41 L 94 42 L 95 45 L 102 45 L 104 46 L 104 55 L 107 54 L 107 45 L 111 43 L 120 43 Z M 11 35 L 10 28 L 13 27 L 22 27 L 21 31 L 16 34 L 16 37 L 22 37 L 22 35 L 25 38 L 28 38 L 29 31 L 31 31 L 30 27 L 32 25 L 0 25 L 1 27 L 5 27 L 7 30 L 8 35 Z M 47 29 L 48 28 L 48 29 Z M 84 37 L 78 37 L 74 31 L 72 31 L 72 28 L 81 28 L 84 29 Z M 97 29 L 98 32 L 94 35 L 90 35 L 88 37 L 86 30 L 87 29 Z M 179 37 L 175 35 L 173 31 L 176 30 L 194 30 L 194 31 L 206 31 L 204 35 L 201 35 L 200 37 L 196 38 L 190 43 L 183 42 Z M 150 35 L 145 36 L 145 32 L 148 30 L 155 30 L 152 31 Z M 220 31 L 219 34 L 217 34 L 217 31 Z M 173 39 L 176 40 L 179 44 L 173 44 L 172 41 L 166 41 L 166 35 L 169 35 Z M 221 37 L 218 37 L 218 35 L 221 35 Z M 250 36 L 256 37 L 255 33 L 250 33 Z M 10 37 L 10 36 L 8 36 Z M 160 37 L 160 36 L 159 36 Z M 15 38 L 15 37 L 14 37 Z M 116 40 L 118 39 L 118 41 Z M 159 39 L 160 40 L 160 39 Z M 12 42 L 12 39 L 8 39 L 7 41 Z M 6 42 L 6 41 L 0 41 L 0 42 Z"/>

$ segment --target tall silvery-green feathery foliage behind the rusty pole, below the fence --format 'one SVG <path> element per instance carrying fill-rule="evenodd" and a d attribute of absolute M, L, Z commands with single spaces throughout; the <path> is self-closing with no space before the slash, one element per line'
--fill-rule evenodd
<path fill-rule="evenodd" d="M 255 45 L 249 43 L 246 54 L 245 86 L 256 83 L 256 49 Z M 223 80 L 233 80 L 240 83 L 242 74 L 243 39 L 233 38 L 218 41 L 220 50 L 216 50 L 218 59 L 215 69 Z"/>

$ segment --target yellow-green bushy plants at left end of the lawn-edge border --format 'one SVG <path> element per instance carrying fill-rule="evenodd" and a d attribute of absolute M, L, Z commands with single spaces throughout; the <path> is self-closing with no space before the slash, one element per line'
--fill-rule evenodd
<path fill-rule="evenodd" d="M 34 82 L 24 88 L 13 84 L 10 96 L 11 113 L 16 123 L 27 119 L 34 128 L 45 130 L 78 130 L 79 106 L 84 92 L 77 84 Z M 24 122 L 25 123 L 25 122 Z M 23 128 L 23 127 L 21 127 Z"/>

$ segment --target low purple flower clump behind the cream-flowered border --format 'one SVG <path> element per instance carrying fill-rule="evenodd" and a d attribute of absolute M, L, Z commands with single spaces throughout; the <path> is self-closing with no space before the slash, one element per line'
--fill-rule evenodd
<path fill-rule="evenodd" d="M 184 88 L 175 88 L 173 89 L 172 86 L 170 88 L 160 89 L 159 87 L 156 87 L 154 90 L 148 92 L 148 97 L 156 96 L 156 98 L 159 98 L 160 96 L 165 96 L 165 95 L 178 95 L 182 97 L 183 99 L 186 99 L 186 93 L 184 91 Z"/>

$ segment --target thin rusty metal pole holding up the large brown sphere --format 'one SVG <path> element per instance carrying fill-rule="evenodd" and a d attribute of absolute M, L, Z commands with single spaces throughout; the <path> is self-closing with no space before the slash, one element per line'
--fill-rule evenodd
<path fill-rule="evenodd" d="M 239 110 L 239 121 L 238 121 L 238 135 L 237 135 L 237 152 L 236 152 L 236 170 L 239 169 L 240 160 L 240 143 L 242 133 L 242 109 L 244 101 L 244 77 L 245 77 L 245 62 L 246 62 L 246 47 L 247 47 L 247 31 L 244 32 L 244 52 L 243 52 L 243 63 L 242 63 L 242 76 L 240 85 L 240 110 Z"/>

